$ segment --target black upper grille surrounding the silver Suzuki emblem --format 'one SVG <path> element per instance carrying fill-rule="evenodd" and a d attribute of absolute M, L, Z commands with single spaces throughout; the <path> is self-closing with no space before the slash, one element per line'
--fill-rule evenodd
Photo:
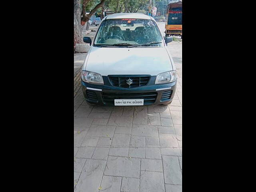
<path fill-rule="evenodd" d="M 140 75 L 140 76 L 118 76 L 118 75 L 109 75 L 108 76 L 110 83 L 115 87 L 122 88 L 135 88 L 141 87 L 148 84 L 150 80 L 150 76 L 148 75 Z M 132 80 L 132 84 L 127 84 L 127 80 Z"/>

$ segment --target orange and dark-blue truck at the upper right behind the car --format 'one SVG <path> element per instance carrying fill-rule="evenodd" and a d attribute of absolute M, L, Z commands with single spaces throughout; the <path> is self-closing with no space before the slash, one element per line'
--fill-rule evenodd
<path fill-rule="evenodd" d="M 166 36 L 180 36 L 182 38 L 182 0 L 170 2 L 167 6 Z"/>

